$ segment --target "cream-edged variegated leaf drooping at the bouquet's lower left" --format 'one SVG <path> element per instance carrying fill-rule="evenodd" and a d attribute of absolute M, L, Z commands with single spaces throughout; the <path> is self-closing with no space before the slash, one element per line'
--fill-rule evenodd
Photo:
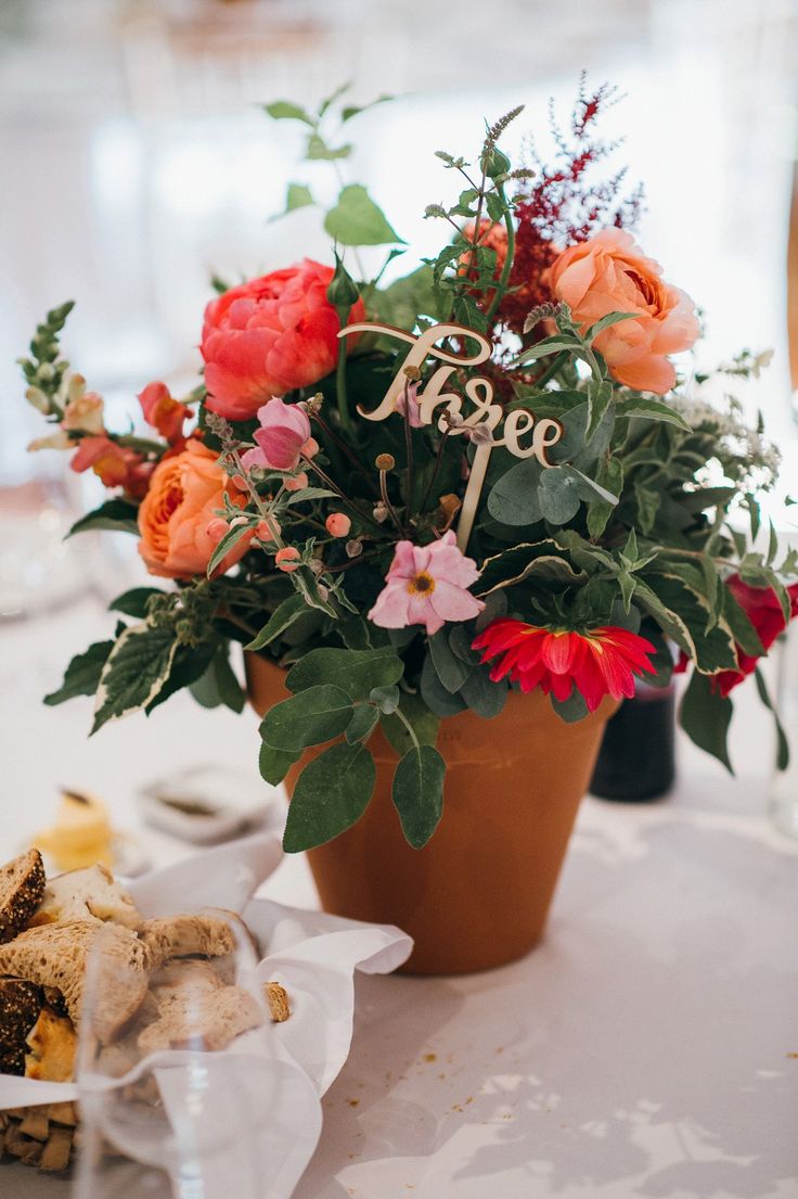
<path fill-rule="evenodd" d="M 147 707 L 165 685 L 176 651 L 171 625 L 126 628 L 103 667 L 91 731 Z"/>

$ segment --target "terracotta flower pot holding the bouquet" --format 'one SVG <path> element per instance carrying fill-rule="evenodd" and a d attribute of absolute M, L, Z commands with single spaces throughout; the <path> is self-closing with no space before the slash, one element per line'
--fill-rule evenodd
<path fill-rule="evenodd" d="M 249 697 L 262 715 L 285 699 L 280 669 L 247 655 Z M 416 947 L 404 970 L 467 974 L 513 962 L 540 939 L 580 800 L 617 703 L 566 724 L 542 692 L 510 694 L 486 721 L 441 721 L 443 817 L 423 849 L 405 840 L 391 800 L 397 754 L 377 728 L 369 741 L 376 788 L 365 814 L 308 851 L 326 911 L 398 924 Z M 325 747 L 309 749 L 286 789 Z"/>

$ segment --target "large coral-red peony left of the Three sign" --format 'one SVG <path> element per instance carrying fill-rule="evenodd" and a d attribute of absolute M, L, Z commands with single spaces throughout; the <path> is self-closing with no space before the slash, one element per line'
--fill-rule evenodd
<path fill-rule="evenodd" d="M 272 396 L 309 387 L 338 361 L 340 321 L 327 300 L 331 266 L 306 258 L 230 288 L 205 309 L 202 357 L 207 408 L 248 420 Z M 362 320 L 363 301 L 350 320 Z M 349 338 L 352 345 L 353 337 Z"/>

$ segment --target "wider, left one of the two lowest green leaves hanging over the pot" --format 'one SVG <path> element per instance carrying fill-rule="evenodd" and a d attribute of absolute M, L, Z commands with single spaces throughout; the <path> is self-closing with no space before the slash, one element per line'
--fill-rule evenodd
<path fill-rule="evenodd" d="M 374 758 L 359 743 L 341 741 L 308 763 L 289 806 L 285 852 L 324 845 L 351 827 L 365 812 L 375 779 Z"/>

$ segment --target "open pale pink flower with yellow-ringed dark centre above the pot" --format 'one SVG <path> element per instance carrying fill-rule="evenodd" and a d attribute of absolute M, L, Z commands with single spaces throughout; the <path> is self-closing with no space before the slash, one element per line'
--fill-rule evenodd
<path fill-rule="evenodd" d="M 369 620 L 381 628 L 424 625 L 437 633 L 447 620 L 468 620 L 485 607 L 467 590 L 478 578 L 477 564 L 460 553 L 451 530 L 430 546 L 400 541 Z"/>

